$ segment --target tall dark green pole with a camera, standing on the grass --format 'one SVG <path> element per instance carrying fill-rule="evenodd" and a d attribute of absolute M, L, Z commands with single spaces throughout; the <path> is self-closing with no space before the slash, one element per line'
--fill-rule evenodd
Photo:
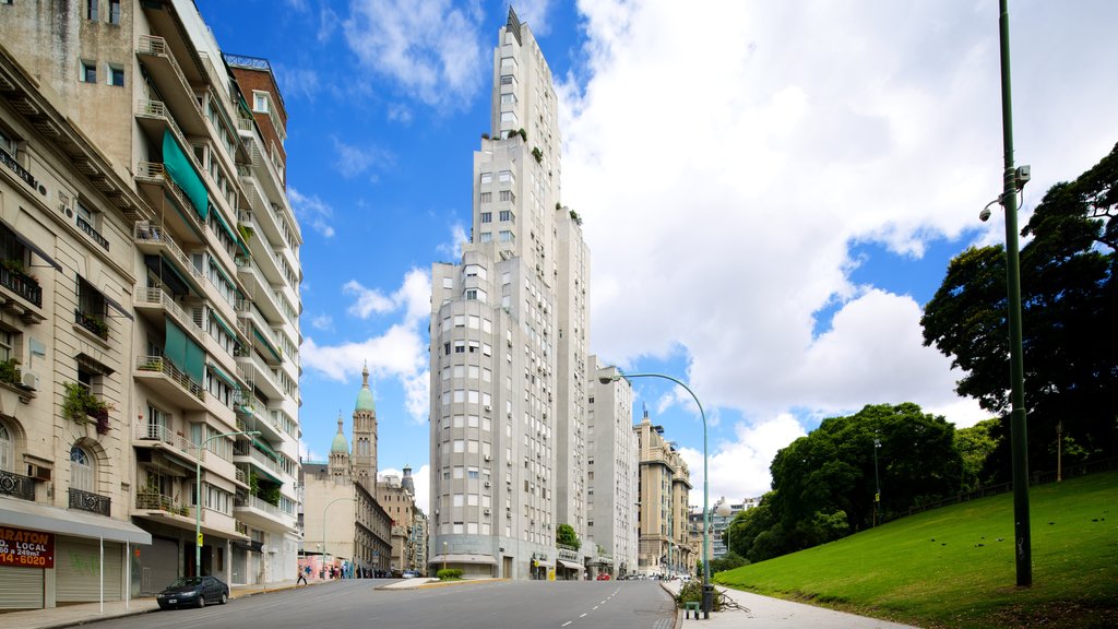
<path fill-rule="evenodd" d="M 1010 91 L 1010 11 L 1001 0 L 1002 139 L 1005 171 L 999 197 L 1005 208 L 1005 279 L 1010 310 L 1010 436 L 1013 458 L 1013 532 L 1017 586 L 1033 584 L 1032 535 L 1029 525 L 1029 436 L 1025 432 L 1025 367 L 1021 341 L 1021 260 L 1017 251 L 1017 191 L 1029 180 L 1029 167 L 1013 167 L 1013 98 Z M 987 206 L 988 207 L 988 206 Z M 987 214 L 988 216 L 988 214 Z"/>

